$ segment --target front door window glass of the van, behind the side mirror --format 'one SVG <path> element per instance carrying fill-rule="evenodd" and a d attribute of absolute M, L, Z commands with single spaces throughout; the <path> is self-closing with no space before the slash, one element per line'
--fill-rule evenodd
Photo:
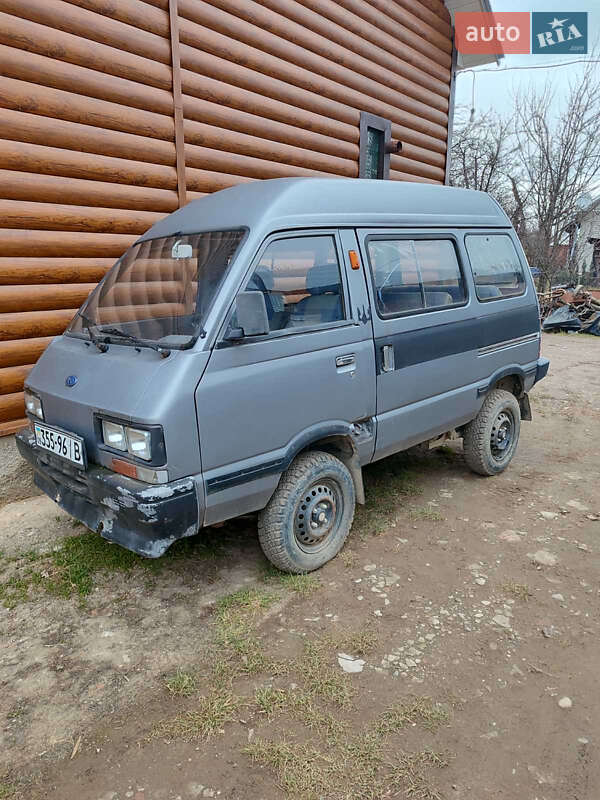
<path fill-rule="evenodd" d="M 263 293 L 271 331 L 346 318 L 333 236 L 297 236 L 271 242 L 246 291 Z"/>

